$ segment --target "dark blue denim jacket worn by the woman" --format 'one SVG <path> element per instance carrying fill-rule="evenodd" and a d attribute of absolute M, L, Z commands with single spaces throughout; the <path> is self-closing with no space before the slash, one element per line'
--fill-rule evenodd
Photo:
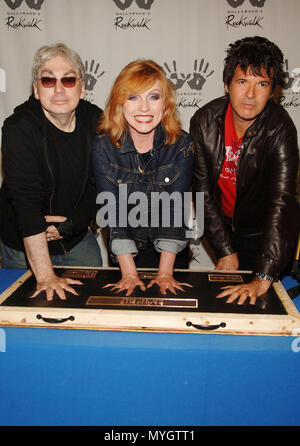
<path fill-rule="evenodd" d="M 143 223 L 139 227 L 131 226 L 129 222 L 124 227 L 124 224 L 121 225 L 118 222 L 118 217 L 116 224 L 114 223 L 110 228 L 110 243 L 115 239 L 134 240 L 138 249 L 143 250 L 148 238 L 152 242 L 157 239 L 186 241 L 186 228 L 184 228 L 184 224 L 179 225 L 178 220 L 183 223 L 183 197 L 184 192 L 188 192 L 191 185 L 193 149 L 191 138 L 185 132 L 174 144 L 166 146 L 165 132 L 161 126 L 158 126 L 155 130 L 153 149 L 144 165 L 143 161 L 140 161 L 130 135 L 124 137 L 120 149 L 114 147 L 105 134 L 101 134 L 95 139 L 92 146 L 92 157 L 98 192 L 112 193 L 116 200 L 116 208 L 119 210 L 119 186 L 120 184 L 126 185 L 127 200 L 130 194 L 141 192 L 147 197 L 149 205 L 148 212 L 145 210 L 143 213 Z M 140 162 L 143 167 L 142 171 Z M 155 207 L 155 199 L 152 197 L 158 194 L 163 195 L 163 193 L 168 196 L 173 193 L 179 195 L 182 206 L 176 205 L 176 200 L 174 202 L 170 200 L 170 209 L 167 210 L 168 205 L 166 204 L 164 211 L 168 216 L 165 218 L 168 221 L 169 217 L 170 221 L 165 225 L 161 221 L 162 210 L 158 207 L 157 217 L 159 216 L 160 220 L 151 225 L 152 205 Z M 106 207 L 107 205 L 105 205 Z M 133 207 L 134 205 L 129 204 L 128 212 Z M 177 224 L 175 224 L 175 219 L 177 219 Z"/>

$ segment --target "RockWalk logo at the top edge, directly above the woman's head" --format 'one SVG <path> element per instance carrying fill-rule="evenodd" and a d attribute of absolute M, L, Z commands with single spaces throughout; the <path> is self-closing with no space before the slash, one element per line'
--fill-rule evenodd
<path fill-rule="evenodd" d="M 150 31 L 150 10 L 154 0 L 112 0 L 118 11 L 113 24 L 116 31 Z"/>

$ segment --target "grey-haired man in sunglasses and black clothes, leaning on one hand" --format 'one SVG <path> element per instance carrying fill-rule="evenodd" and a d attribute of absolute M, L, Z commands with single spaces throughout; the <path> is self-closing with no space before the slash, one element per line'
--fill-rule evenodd
<path fill-rule="evenodd" d="M 91 142 L 101 109 L 84 100 L 84 66 L 59 43 L 33 61 L 33 94 L 2 129 L 4 181 L 0 191 L 2 267 L 32 269 L 47 299 L 77 294 L 79 281 L 52 265 L 101 266 L 89 224 L 96 214 Z"/>

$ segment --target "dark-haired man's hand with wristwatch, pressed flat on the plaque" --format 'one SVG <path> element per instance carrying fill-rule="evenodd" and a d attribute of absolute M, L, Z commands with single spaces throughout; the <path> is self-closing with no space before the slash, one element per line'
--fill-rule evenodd
<path fill-rule="evenodd" d="M 255 305 L 256 299 L 268 291 L 272 282 L 273 278 L 271 276 L 263 273 L 256 273 L 254 279 L 249 283 L 222 287 L 225 291 L 218 294 L 216 297 L 219 299 L 229 296 L 226 303 L 232 303 L 238 299 L 238 305 L 244 304 L 249 297 L 250 304 Z"/>

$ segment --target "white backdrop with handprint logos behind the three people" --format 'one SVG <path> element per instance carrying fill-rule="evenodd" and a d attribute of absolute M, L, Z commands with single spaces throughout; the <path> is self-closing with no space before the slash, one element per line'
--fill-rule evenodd
<path fill-rule="evenodd" d="M 300 0 L 0 0 L 0 126 L 31 93 L 35 51 L 63 41 L 80 54 L 87 99 L 101 108 L 127 63 L 154 59 L 177 88 L 188 130 L 197 108 L 224 93 L 229 43 L 261 35 L 284 53 L 279 101 L 299 130 L 299 22 Z M 212 264 L 202 244 L 194 256 L 196 265 Z"/>

